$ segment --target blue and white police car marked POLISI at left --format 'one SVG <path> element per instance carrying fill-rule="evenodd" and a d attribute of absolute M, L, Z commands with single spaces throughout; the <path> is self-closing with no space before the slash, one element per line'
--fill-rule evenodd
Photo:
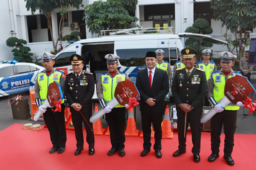
<path fill-rule="evenodd" d="M 39 71 L 44 67 L 33 63 L 1 61 L 0 64 L 0 97 L 18 92 L 28 92 L 36 83 Z"/>

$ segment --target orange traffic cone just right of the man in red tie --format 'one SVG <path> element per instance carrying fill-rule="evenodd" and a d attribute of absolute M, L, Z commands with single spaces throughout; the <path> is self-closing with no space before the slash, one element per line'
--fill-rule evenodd
<path fill-rule="evenodd" d="M 166 106 L 165 108 L 164 120 L 162 124 L 162 138 L 167 138 L 167 139 L 173 138 L 168 106 Z"/>

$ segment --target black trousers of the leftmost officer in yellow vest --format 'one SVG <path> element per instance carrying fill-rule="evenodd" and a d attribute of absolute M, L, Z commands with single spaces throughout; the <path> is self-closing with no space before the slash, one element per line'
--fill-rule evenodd
<path fill-rule="evenodd" d="M 53 112 L 53 108 L 47 108 L 44 113 L 44 122 L 50 132 L 53 147 L 62 148 L 66 147 L 67 135 L 65 128 L 64 118 L 64 103 L 61 104 L 61 112 Z"/>

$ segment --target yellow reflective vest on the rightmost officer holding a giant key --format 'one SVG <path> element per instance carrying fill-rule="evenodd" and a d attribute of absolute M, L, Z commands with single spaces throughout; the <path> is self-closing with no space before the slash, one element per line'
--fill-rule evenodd
<path fill-rule="evenodd" d="M 233 75 L 229 75 L 228 78 L 234 77 L 237 74 L 241 75 L 239 72 L 234 71 Z M 212 72 L 212 79 L 214 83 L 213 98 L 216 102 L 220 101 L 220 99 L 224 97 L 224 88 L 228 78 L 220 74 L 220 70 Z M 225 110 L 239 110 L 239 107 L 236 106 L 236 104 L 229 103 L 228 106 L 225 107 Z"/>

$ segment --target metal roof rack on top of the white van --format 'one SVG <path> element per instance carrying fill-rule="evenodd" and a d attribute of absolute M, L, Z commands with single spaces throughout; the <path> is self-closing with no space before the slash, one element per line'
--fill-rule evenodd
<path fill-rule="evenodd" d="M 109 35 L 134 35 L 134 34 L 148 34 L 148 33 L 173 33 L 173 27 L 151 27 L 151 28 L 129 28 L 129 29 L 116 29 L 116 30 L 101 30 L 102 36 Z"/>

